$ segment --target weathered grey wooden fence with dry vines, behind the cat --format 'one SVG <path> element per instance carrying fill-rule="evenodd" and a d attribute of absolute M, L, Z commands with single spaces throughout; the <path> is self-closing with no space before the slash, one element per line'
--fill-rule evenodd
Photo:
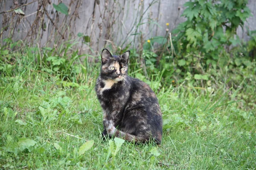
<path fill-rule="evenodd" d="M 100 51 L 108 45 L 112 48 L 136 46 L 140 44 L 137 41 L 164 36 L 166 28 L 172 31 L 183 22 L 185 18 L 180 16 L 186 1 L 0 0 L 0 40 L 12 37 L 44 47 L 78 39 L 81 51 Z M 68 7 L 68 15 L 56 12 L 53 4 L 59 3 Z M 20 6 L 21 11 L 14 10 Z M 245 26 L 255 30 L 256 0 L 249 0 L 248 7 L 253 16 Z M 248 40 L 246 29 L 239 28 L 238 34 Z"/>

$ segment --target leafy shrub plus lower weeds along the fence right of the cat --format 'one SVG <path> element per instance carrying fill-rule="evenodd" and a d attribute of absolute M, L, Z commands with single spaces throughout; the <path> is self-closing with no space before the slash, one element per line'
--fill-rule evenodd
<path fill-rule="evenodd" d="M 178 86 L 186 80 L 185 85 L 189 87 L 211 88 L 210 91 L 217 90 L 218 85 L 212 82 L 222 81 L 223 73 L 229 77 L 243 72 L 227 80 L 229 87 L 237 87 L 244 79 L 248 82 L 249 72 L 255 65 L 255 31 L 248 30 L 251 38 L 247 44 L 236 34 L 237 28 L 243 28 L 251 16 L 247 0 L 190 0 L 185 6 L 183 17 L 187 20 L 172 31 L 172 40 L 169 36 L 159 37 L 163 41 L 154 44 L 155 37 L 150 38 L 139 56 L 134 49 L 132 55 L 136 60 L 131 62 L 140 62 L 134 66 L 137 70 L 142 68 L 136 77 L 146 81 L 151 79 L 148 75 L 158 74 L 162 86 Z"/>

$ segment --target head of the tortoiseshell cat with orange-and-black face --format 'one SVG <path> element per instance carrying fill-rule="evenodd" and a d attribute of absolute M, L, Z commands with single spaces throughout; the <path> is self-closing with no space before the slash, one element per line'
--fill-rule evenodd
<path fill-rule="evenodd" d="M 102 50 L 101 77 L 103 79 L 113 79 L 117 82 L 125 79 L 128 73 L 128 60 L 130 51 L 126 51 L 120 56 L 112 55 L 106 48 Z"/>

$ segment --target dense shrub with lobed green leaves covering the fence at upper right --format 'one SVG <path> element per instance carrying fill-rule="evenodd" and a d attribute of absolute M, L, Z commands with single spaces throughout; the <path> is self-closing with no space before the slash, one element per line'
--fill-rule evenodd
<path fill-rule="evenodd" d="M 218 61 L 230 45 L 241 45 L 236 30 L 251 16 L 247 0 L 190 0 L 184 6 L 187 8 L 182 16 L 187 21 L 173 30 L 180 57 L 200 51 L 204 60 Z"/>

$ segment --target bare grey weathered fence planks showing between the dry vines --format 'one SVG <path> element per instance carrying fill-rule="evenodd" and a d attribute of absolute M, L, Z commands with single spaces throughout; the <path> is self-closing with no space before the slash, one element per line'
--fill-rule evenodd
<path fill-rule="evenodd" d="M 114 45 L 128 45 L 130 42 L 134 42 L 134 37 L 136 37 L 135 46 L 138 46 L 140 42 L 137 42 L 137 37 L 140 36 L 140 32 L 143 33 L 144 40 L 154 36 L 164 36 L 166 35 L 166 28 L 169 28 L 169 31 L 172 31 L 172 29 L 179 23 L 186 20 L 184 17 L 180 17 L 180 15 L 183 13 L 184 3 L 188 0 L 154 0 L 156 3 L 145 12 L 149 3 L 152 1 L 153 0 L 81 0 L 81 4 L 79 4 L 79 8 L 77 9 L 79 18 L 74 20 L 74 17 L 71 15 L 76 9 L 76 3 L 80 2 L 80 0 L 73 0 L 69 16 L 58 13 L 57 22 L 55 9 L 52 5 L 48 4 L 46 10 L 49 17 L 56 22 L 55 26 L 45 15 L 42 24 L 42 26 L 45 26 L 45 29 L 44 31 L 41 29 L 38 30 L 41 36 L 38 40 L 35 39 L 35 35 L 30 36 L 34 36 L 33 38 L 41 46 L 52 46 L 58 40 L 63 42 L 69 38 L 78 38 L 77 34 L 80 32 L 90 36 L 90 48 L 93 49 L 93 51 L 100 51 L 102 48 L 108 46 L 112 47 L 112 43 Z M 17 2 L 20 6 L 22 4 L 33 2 L 33 0 L 18 0 Z M 39 3 L 41 2 L 42 0 L 39 1 Z M 58 4 L 60 1 L 51 0 L 51 2 Z M 69 6 L 70 2 L 71 0 L 62 0 L 62 3 L 66 4 L 66 6 Z M 0 12 L 15 7 L 17 6 L 14 5 L 14 1 L 12 0 L 2 0 L 0 2 Z M 249 0 L 248 7 L 253 16 L 247 19 L 245 27 L 247 26 L 250 30 L 256 30 L 256 1 Z M 23 40 L 27 38 L 30 27 L 37 15 L 38 2 L 24 6 L 21 9 L 24 11 L 25 16 L 23 16 L 23 19 L 18 23 L 14 30 L 14 40 Z M 140 16 L 143 12 L 145 12 L 141 20 L 141 23 L 143 24 L 138 25 Z M 11 12 L 7 13 L 7 15 L 8 17 L 12 17 Z M 17 16 L 14 17 L 14 21 L 15 20 L 17 20 Z M 114 24 L 112 25 L 113 22 Z M 169 26 L 166 26 L 166 23 L 169 23 Z M 138 30 L 135 32 L 137 26 Z M 0 28 L 2 27 L 3 14 L 0 14 Z M 244 29 L 239 28 L 238 34 L 244 40 L 248 40 L 249 37 L 247 36 L 245 27 Z M 58 30 L 56 28 L 58 28 Z M 5 31 L 2 38 L 8 37 L 9 31 L 10 30 Z M 62 40 L 60 34 L 64 35 L 64 40 Z M 49 44 L 46 44 L 47 42 Z M 81 47 L 81 51 L 89 50 L 88 45 L 82 45 L 80 43 L 79 47 Z"/>

